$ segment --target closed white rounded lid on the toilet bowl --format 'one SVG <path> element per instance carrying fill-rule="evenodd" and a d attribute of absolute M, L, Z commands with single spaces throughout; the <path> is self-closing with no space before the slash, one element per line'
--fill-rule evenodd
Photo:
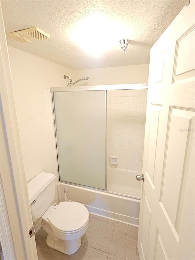
<path fill-rule="evenodd" d="M 83 227 L 88 218 L 89 212 L 82 204 L 73 201 L 62 201 L 48 220 L 61 231 L 73 231 Z"/>

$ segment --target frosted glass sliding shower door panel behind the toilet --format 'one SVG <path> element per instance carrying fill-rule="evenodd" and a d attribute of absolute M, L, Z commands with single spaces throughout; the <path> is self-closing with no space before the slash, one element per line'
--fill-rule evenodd
<path fill-rule="evenodd" d="M 105 189 L 105 91 L 53 92 L 61 181 Z"/>

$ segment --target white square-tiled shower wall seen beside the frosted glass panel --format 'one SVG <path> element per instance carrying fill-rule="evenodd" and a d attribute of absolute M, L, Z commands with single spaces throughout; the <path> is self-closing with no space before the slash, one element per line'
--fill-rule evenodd
<path fill-rule="evenodd" d="M 107 91 L 107 166 L 142 172 L 147 89 Z M 118 156 L 118 165 L 109 163 Z"/>

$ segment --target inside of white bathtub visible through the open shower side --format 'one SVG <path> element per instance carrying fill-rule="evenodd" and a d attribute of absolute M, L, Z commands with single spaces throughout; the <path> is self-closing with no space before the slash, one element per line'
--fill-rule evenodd
<path fill-rule="evenodd" d="M 139 172 L 107 168 L 107 191 L 125 194 L 127 196 L 141 197 L 141 181 L 136 180 Z"/>

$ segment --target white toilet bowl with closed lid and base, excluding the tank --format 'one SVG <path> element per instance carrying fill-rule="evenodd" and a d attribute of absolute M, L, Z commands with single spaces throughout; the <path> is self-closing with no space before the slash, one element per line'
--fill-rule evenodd
<path fill-rule="evenodd" d="M 46 243 L 66 255 L 74 254 L 81 245 L 81 237 L 89 226 L 89 213 L 78 202 L 60 202 L 50 206 L 42 216 L 41 225 L 48 233 Z"/>

